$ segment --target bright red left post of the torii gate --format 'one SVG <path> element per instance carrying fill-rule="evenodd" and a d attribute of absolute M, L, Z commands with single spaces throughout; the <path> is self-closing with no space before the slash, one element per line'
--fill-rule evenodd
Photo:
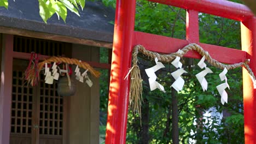
<path fill-rule="evenodd" d="M 106 143 L 125 143 L 131 67 L 135 0 L 118 0 L 115 10 L 114 41 L 108 99 Z"/>

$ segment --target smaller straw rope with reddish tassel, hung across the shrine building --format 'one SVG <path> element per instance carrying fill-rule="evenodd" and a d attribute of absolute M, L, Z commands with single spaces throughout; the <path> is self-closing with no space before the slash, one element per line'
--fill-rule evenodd
<path fill-rule="evenodd" d="M 88 71 L 90 71 L 90 73 L 95 77 L 100 76 L 100 72 L 92 68 L 90 64 L 83 61 L 80 62 L 78 59 L 75 59 L 75 58 L 67 58 L 67 57 L 50 57 L 48 59 L 45 59 L 43 62 L 38 63 L 38 70 L 37 70 L 38 73 L 40 72 L 40 70 L 43 69 L 45 63 L 51 63 L 51 62 L 75 64 L 75 65 L 78 65 L 79 68 L 88 69 Z M 26 79 L 28 83 L 31 83 L 31 86 L 33 86 L 33 81 L 36 79 L 36 74 L 34 74 L 34 71 L 35 71 L 34 69 L 30 69 L 28 71 L 28 76 Z"/>

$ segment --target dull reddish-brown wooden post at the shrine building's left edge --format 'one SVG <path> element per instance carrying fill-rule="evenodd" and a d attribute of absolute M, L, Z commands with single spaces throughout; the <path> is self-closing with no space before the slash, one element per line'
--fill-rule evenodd
<path fill-rule="evenodd" d="M 3 35 L 1 91 L 0 91 L 0 143 L 9 143 L 11 112 L 11 80 L 13 76 L 13 35 Z"/>

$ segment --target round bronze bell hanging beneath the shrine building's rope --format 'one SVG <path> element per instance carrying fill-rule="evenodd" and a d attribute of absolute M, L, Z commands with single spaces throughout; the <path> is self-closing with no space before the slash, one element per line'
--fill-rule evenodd
<path fill-rule="evenodd" d="M 75 94 L 75 83 L 72 79 L 70 80 L 71 80 L 71 86 L 69 87 L 67 76 L 60 77 L 57 83 L 57 93 L 60 96 L 66 97 L 66 96 L 71 96 Z"/>

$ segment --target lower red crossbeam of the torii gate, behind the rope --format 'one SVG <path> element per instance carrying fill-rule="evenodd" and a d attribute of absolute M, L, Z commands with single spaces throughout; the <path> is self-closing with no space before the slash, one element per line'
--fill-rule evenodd
<path fill-rule="evenodd" d="M 188 44 L 189 41 L 187 40 L 143 32 L 135 32 L 133 38 L 133 46 L 143 45 L 147 50 L 159 53 L 177 52 Z M 204 50 L 208 51 L 212 58 L 222 63 L 234 64 L 244 62 L 246 59 L 245 51 L 210 44 L 199 43 L 199 45 Z M 189 51 L 184 57 L 201 58 L 196 51 Z"/>

